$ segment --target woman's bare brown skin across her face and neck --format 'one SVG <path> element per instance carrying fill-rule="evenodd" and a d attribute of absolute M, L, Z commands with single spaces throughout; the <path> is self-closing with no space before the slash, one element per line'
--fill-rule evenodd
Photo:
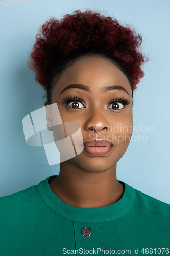
<path fill-rule="evenodd" d="M 61 91 L 72 83 L 84 84 L 91 92 L 70 88 L 59 96 Z M 102 92 L 104 87 L 110 85 L 122 86 L 129 95 L 118 89 Z M 83 103 L 76 102 L 79 108 L 72 109 L 72 103 L 75 101 L 67 106 L 62 103 L 66 95 L 76 95 L 83 99 Z M 126 97 L 130 103 L 123 105 L 116 101 L 116 108 L 115 103 L 108 104 L 117 97 Z M 80 208 L 104 207 L 119 201 L 124 194 L 124 186 L 117 181 L 116 163 L 128 148 L 133 127 L 132 89 L 125 74 L 104 57 L 80 58 L 64 71 L 55 84 L 51 103 L 57 103 L 63 123 L 79 123 L 83 141 L 105 138 L 114 145 L 104 156 L 92 156 L 83 150 L 76 157 L 61 162 L 59 175 L 49 181 L 53 193 L 65 203 Z M 48 102 L 44 104 L 49 105 Z M 47 114 L 46 119 L 48 126 L 52 125 L 51 116 Z M 114 137 L 117 135 L 116 141 L 112 133 L 118 124 L 127 126 L 128 129 L 114 133 Z M 90 127 L 93 127 L 93 133 Z M 48 130 L 52 131 L 53 127 Z M 118 136 L 122 136 L 121 142 L 118 142 Z M 125 140 L 126 136 L 129 137 Z"/>

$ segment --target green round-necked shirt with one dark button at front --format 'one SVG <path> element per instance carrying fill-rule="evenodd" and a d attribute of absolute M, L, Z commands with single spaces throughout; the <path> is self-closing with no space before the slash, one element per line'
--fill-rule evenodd
<path fill-rule="evenodd" d="M 78 208 L 53 193 L 48 180 L 56 176 L 0 197 L 1 256 L 170 255 L 169 204 L 119 181 L 118 202 Z"/>

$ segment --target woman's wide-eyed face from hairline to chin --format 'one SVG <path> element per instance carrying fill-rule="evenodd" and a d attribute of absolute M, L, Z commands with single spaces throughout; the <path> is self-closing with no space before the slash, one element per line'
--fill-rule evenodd
<path fill-rule="evenodd" d="M 64 90 L 70 84 L 84 85 L 86 90 Z M 121 88 L 106 91 L 105 87 L 115 85 Z M 66 105 L 63 103 L 66 96 L 77 96 L 82 102 L 72 100 Z M 119 100 L 110 103 L 117 98 L 126 98 L 129 104 L 124 105 Z M 76 122 L 80 125 L 83 141 L 106 139 L 113 143 L 111 151 L 103 156 L 94 156 L 83 150 L 69 159 L 69 162 L 86 172 L 104 172 L 116 165 L 129 145 L 133 116 L 131 86 L 125 74 L 114 63 L 96 56 L 77 60 L 55 84 L 53 103 L 57 103 L 63 123 Z"/>

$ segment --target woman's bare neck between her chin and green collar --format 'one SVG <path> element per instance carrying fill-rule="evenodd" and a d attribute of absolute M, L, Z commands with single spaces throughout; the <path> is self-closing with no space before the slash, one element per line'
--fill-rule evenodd
<path fill-rule="evenodd" d="M 65 161 L 49 184 L 59 199 L 80 208 L 104 207 L 116 203 L 124 194 L 124 186 L 116 178 L 116 165 L 105 172 L 92 173 Z"/>

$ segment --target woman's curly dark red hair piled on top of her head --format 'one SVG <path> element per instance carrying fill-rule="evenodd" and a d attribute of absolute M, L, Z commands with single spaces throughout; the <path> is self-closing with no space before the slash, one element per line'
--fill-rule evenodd
<path fill-rule="evenodd" d="M 40 28 L 29 53 L 28 67 L 35 71 L 35 80 L 45 82 L 55 64 L 73 52 L 88 47 L 101 47 L 117 58 L 132 81 L 133 91 L 144 76 L 141 65 L 147 61 L 139 51 L 141 35 L 116 19 L 86 10 L 66 14 L 61 20 L 50 18 Z"/>

